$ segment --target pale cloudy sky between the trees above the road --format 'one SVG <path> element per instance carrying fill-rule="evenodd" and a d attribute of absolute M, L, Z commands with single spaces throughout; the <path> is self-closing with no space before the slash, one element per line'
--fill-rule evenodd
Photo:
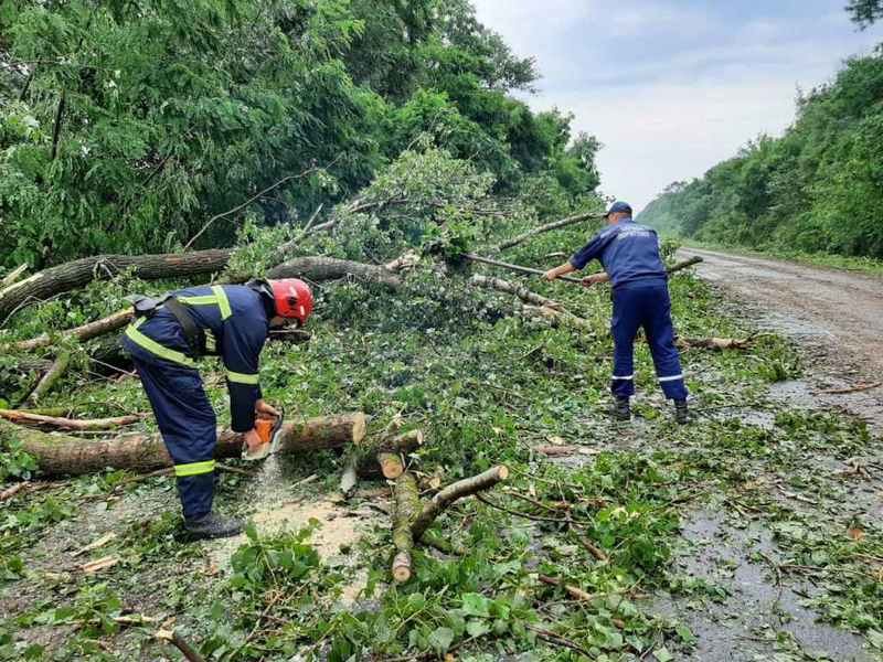
<path fill-rule="evenodd" d="M 797 89 L 883 41 L 847 0 L 474 0 L 543 78 L 526 100 L 574 113 L 604 143 L 606 194 L 643 207 L 762 132 L 794 120 Z"/>

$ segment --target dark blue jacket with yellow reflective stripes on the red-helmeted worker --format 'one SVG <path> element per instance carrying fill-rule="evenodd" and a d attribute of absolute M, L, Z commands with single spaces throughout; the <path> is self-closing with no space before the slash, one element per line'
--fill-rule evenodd
<path fill-rule="evenodd" d="M 205 330 L 210 351 L 214 345 L 224 362 L 233 430 L 251 430 L 255 424 L 255 403 L 262 397 L 258 359 L 269 332 L 260 295 L 244 286 L 225 285 L 193 287 L 172 296 L 188 307 L 195 323 Z M 128 341 L 160 359 L 194 365 L 187 356 L 190 348 L 178 320 L 164 308 L 150 319 L 137 321 L 126 335 Z"/>

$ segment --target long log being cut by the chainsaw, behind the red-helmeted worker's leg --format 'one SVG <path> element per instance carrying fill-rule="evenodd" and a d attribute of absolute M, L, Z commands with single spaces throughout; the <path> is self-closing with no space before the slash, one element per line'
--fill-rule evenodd
<path fill-rule="evenodd" d="M 279 452 L 298 453 L 341 448 L 360 444 L 365 436 L 365 415 L 343 414 L 285 424 Z M 162 438 L 158 435 L 126 435 L 102 441 L 85 441 L 67 436 L 41 433 L 0 420 L 0 439 L 17 438 L 22 450 L 32 456 L 45 476 L 82 476 L 110 469 L 136 473 L 172 466 Z M 238 458 L 242 435 L 221 431 L 215 458 Z"/>

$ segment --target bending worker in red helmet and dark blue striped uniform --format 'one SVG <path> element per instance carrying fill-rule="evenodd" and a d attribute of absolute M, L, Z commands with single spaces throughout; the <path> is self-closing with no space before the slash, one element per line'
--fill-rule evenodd
<path fill-rule="evenodd" d="M 302 280 L 287 278 L 194 287 L 160 300 L 132 300 L 136 319 L 123 346 L 141 377 L 174 462 L 184 530 L 191 540 L 236 535 L 242 524 L 212 511 L 216 421 L 195 361 L 221 357 L 233 431 L 243 435 L 246 457 L 266 457 L 260 452 L 266 440 L 255 421 L 279 413 L 264 402 L 258 359 L 272 328 L 306 323 L 312 313 L 312 292 Z"/>

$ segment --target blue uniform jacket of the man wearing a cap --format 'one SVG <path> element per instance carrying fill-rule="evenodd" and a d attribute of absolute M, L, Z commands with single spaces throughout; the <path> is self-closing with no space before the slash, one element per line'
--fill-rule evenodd
<path fill-rule="evenodd" d="M 584 269 L 593 259 L 600 260 L 615 290 L 638 281 L 649 285 L 652 280 L 668 279 L 659 256 L 659 236 L 653 228 L 638 225 L 631 218 L 600 231 L 571 258 L 571 265 Z"/>

